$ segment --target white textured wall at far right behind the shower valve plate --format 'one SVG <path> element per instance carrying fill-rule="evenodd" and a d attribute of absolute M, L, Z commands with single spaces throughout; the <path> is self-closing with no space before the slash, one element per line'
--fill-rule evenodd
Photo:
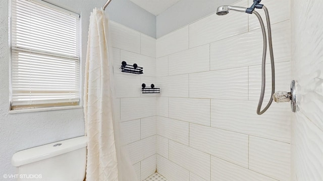
<path fill-rule="evenodd" d="M 292 180 L 323 180 L 323 2 L 292 1 Z"/>

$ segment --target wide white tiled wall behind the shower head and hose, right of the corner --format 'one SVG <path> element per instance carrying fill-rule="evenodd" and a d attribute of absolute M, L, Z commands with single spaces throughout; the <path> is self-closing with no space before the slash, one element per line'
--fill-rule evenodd
<path fill-rule="evenodd" d="M 261 3 L 271 16 L 276 90 L 288 91 L 290 1 Z M 235 6 L 251 4 L 243 0 Z M 156 98 L 156 164 L 169 180 L 290 180 L 290 105 L 273 103 L 256 115 L 259 27 L 254 15 L 232 11 L 209 15 L 157 39 L 156 84 L 161 94 Z M 269 100 L 269 64 L 266 71 Z"/>

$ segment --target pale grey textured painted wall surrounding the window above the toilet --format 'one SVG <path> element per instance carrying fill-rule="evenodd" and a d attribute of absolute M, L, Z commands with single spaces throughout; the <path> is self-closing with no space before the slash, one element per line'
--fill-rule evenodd
<path fill-rule="evenodd" d="M 81 4 L 64 1 L 53 4 L 82 14 L 82 29 L 88 29 L 91 9 Z M 15 174 L 12 155 L 23 149 L 84 135 L 83 109 L 8 114 L 9 110 L 9 56 L 8 56 L 8 1 L 0 1 L 0 174 Z M 92 5 L 94 7 L 94 5 Z M 84 16 L 84 17 L 83 17 Z M 84 33 L 85 32 L 85 33 Z M 82 35 L 86 45 L 87 31 Z M 86 46 L 83 46 L 85 57 Z"/>

